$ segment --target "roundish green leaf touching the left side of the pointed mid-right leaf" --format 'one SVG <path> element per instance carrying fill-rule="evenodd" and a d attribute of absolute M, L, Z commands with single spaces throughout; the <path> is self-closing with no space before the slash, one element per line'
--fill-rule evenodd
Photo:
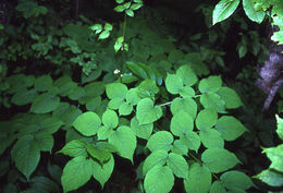
<path fill-rule="evenodd" d="M 218 122 L 218 113 L 214 109 L 204 109 L 198 112 L 196 126 L 198 130 L 210 129 Z"/>

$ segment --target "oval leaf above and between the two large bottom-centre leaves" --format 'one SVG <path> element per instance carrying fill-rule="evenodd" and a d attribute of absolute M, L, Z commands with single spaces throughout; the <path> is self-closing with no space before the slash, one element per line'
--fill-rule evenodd
<path fill-rule="evenodd" d="M 170 153 L 167 159 L 167 166 L 171 168 L 176 177 L 184 179 L 187 178 L 188 165 L 183 156 Z"/>

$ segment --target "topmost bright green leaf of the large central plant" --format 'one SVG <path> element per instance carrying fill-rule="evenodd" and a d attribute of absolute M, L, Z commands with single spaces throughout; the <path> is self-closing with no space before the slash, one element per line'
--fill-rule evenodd
<path fill-rule="evenodd" d="M 176 70 L 176 75 L 182 79 L 182 82 L 186 86 L 193 86 L 196 84 L 197 76 L 189 65 L 182 65 Z"/>

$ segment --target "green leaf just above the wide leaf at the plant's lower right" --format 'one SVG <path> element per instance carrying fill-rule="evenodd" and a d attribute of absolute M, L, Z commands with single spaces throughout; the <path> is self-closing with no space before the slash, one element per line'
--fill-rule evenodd
<path fill-rule="evenodd" d="M 201 130 L 199 132 L 201 143 L 207 148 L 223 148 L 224 140 L 221 134 L 214 129 Z"/>

